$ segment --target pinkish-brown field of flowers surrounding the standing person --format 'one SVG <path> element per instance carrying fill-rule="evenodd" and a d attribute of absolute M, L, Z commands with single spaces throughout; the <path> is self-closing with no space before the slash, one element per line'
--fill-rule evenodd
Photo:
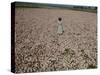
<path fill-rule="evenodd" d="M 16 8 L 16 72 L 97 67 L 97 14 L 66 9 Z M 62 17 L 64 33 L 57 34 Z"/>

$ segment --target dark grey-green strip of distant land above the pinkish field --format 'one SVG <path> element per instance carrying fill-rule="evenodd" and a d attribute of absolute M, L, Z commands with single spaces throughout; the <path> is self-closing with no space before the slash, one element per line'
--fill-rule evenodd
<path fill-rule="evenodd" d="M 97 13 L 95 6 L 76 6 L 76 5 L 62 5 L 62 4 L 47 4 L 47 3 L 28 3 L 28 2 L 15 2 L 15 7 L 25 8 L 58 8 L 58 9 L 71 9 L 78 11 L 86 11 Z"/>

